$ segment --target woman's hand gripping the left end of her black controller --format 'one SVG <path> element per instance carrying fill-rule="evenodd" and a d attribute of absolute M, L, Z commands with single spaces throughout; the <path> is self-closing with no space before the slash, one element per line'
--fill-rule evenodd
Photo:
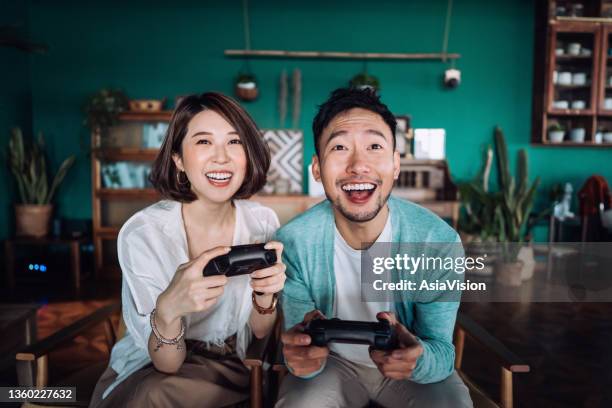
<path fill-rule="evenodd" d="M 203 277 L 202 271 L 211 259 L 228 253 L 230 247 L 216 247 L 178 267 L 170 285 L 157 298 L 156 320 L 164 334 L 164 327 L 175 323 L 189 313 L 209 309 L 223 294 L 227 283 L 225 275 Z M 172 337 L 172 336 L 169 336 Z"/>

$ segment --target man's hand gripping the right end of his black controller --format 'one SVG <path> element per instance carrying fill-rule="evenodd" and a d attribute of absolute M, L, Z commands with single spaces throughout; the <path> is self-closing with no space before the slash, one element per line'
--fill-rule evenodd
<path fill-rule="evenodd" d="M 395 314 L 391 312 L 380 312 L 376 315 L 378 319 L 388 320 L 395 329 L 398 340 L 398 348 L 391 351 L 372 350 L 370 357 L 378 367 L 378 370 L 387 378 L 392 380 L 406 380 L 412 376 L 416 367 L 416 361 L 423 354 L 423 346 L 416 337 L 401 324 Z"/>

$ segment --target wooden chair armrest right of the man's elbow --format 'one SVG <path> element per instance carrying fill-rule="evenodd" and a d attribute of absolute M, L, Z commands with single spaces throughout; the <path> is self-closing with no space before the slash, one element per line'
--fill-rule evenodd
<path fill-rule="evenodd" d="M 521 360 L 516 354 L 510 351 L 501 341 L 496 339 L 491 333 L 486 331 L 481 325 L 476 323 L 467 315 L 457 313 L 457 326 L 472 339 L 484 347 L 498 360 L 498 362 L 508 371 L 513 373 L 527 373 L 530 370 L 529 364 Z"/>

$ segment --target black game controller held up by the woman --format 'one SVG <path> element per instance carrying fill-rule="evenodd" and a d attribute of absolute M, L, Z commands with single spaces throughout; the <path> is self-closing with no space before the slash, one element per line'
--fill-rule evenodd
<path fill-rule="evenodd" d="M 219 255 L 208 262 L 204 276 L 238 276 L 251 274 L 276 263 L 276 251 L 265 249 L 265 244 L 236 245 L 225 255 Z"/>

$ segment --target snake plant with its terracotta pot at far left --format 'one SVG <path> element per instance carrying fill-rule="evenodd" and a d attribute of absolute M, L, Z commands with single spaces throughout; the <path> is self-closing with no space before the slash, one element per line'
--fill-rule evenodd
<path fill-rule="evenodd" d="M 38 140 L 26 145 L 21 129 L 13 129 L 9 140 L 9 165 L 15 176 L 21 201 L 15 204 L 17 236 L 40 238 L 48 234 L 53 211 L 51 200 L 74 160 L 74 156 L 64 160 L 49 187 L 42 134 L 38 136 Z"/>

